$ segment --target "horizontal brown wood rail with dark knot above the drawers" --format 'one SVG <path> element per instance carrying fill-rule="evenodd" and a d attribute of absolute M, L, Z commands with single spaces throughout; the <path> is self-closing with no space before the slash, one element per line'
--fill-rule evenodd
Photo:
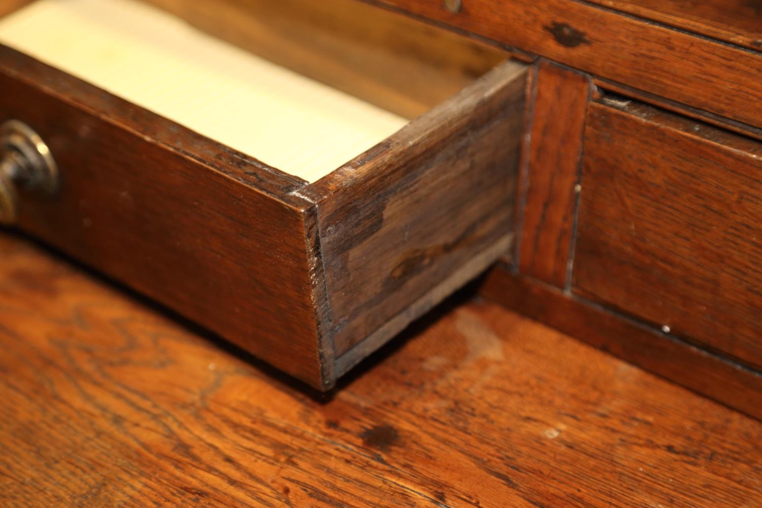
<path fill-rule="evenodd" d="M 378 0 L 583 72 L 762 126 L 762 53 L 576 0 Z M 716 2 L 715 2 L 716 3 Z M 734 2 L 735 3 L 735 2 Z"/>

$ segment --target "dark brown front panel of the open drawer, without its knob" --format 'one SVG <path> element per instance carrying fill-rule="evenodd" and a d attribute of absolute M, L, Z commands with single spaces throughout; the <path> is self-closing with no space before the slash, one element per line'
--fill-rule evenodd
<path fill-rule="evenodd" d="M 0 119 L 34 127 L 62 178 L 21 196 L 19 227 L 319 384 L 309 218 L 271 196 L 298 182 L 4 47 Z"/>

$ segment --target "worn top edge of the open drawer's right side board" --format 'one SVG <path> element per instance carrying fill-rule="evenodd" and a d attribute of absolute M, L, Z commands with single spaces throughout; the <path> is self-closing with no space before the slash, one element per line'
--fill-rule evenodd
<path fill-rule="evenodd" d="M 513 59 L 501 63 L 495 69 L 482 75 L 472 85 L 463 88 L 447 101 L 412 120 L 383 142 L 358 155 L 319 181 L 312 182 L 293 193 L 319 205 L 325 200 L 336 199 L 336 194 L 362 181 L 373 181 L 383 177 L 377 161 L 383 160 L 387 153 L 404 149 L 405 152 L 415 154 L 419 150 L 419 142 L 430 137 L 431 133 L 440 129 L 443 124 L 453 121 L 453 110 L 463 110 L 461 105 L 465 104 L 471 104 L 472 109 L 476 109 L 482 104 L 493 101 L 495 94 L 502 90 L 507 81 L 515 80 L 527 72 L 527 65 Z M 476 104 L 472 104 L 474 97 L 479 97 Z"/>

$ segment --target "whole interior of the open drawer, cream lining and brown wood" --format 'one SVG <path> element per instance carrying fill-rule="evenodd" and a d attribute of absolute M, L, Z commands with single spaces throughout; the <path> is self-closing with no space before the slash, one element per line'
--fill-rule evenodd
<path fill-rule="evenodd" d="M 508 58 L 356 0 L 11 4 L 0 43 L 307 182 Z"/>

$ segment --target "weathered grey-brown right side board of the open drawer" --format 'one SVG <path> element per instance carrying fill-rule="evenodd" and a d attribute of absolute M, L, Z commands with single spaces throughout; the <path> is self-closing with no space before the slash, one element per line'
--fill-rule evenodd
<path fill-rule="evenodd" d="M 337 357 L 371 334 L 377 347 L 447 296 L 427 297 L 434 286 L 511 247 L 526 76 L 499 65 L 298 191 L 318 208 Z"/>

